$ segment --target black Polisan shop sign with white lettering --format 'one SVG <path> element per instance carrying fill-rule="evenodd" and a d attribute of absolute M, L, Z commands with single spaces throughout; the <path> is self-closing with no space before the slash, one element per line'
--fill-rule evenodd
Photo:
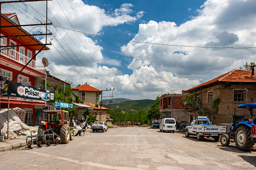
<path fill-rule="evenodd" d="M 12 82 L 8 86 L 8 96 L 34 100 L 54 101 L 54 92 L 17 82 Z"/>

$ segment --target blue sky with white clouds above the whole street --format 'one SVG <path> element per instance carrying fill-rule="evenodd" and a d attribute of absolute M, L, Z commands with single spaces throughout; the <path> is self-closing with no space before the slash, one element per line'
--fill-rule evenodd
<path fill-rule="evenodd" d="M 45 23 L 45 4 L 2 4 L 2 13 L 16 12 L 21 24 Z M 52 0 L 52 45 L 36 61 L 46 57 L 50 74 L 74 86 L 87 82 L 115 88 L 114 98 L 154 100 L 255 62 L 255 48 L 187 47 L 256 47 L 255 9 L 253 0 Z"/>

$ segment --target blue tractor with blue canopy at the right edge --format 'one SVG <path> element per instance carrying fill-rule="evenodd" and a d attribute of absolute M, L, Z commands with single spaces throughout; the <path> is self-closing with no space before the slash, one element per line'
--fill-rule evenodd
<path fill-rule="evenodd" d="M 245 119 L 236 120 L 236 108 L 233 117 L 233 123 L 230 125 L 230 133 L 223 134 L 220 137 L 220 143 L 228 146 L 230 142 L 235 142 L 236 147 L 241 151 L 250 151 L 256 143 L 256 138 L 252 137 L 252 125 L 256 125 L 256 119 L 253 120 L 252 109 L 256 108 L 256 103 L 244 103 L 237 108 L 246 108 L 250 111 L 250 116 Z M 230 140 L 233 141 L 230 141 Z"/>

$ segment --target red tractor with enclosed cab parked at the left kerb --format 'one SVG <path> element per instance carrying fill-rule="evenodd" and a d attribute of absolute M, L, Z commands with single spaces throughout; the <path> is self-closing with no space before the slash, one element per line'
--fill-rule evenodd
<path fill-rule="evenodd" d="M 67 144 L 69 140 L 74 139 L 74 131 L 69 127 L 69 115 L 68 111 L 65 110 L 45 110 L 43 114 L 43 119 L 41 125 L 38 128 L 38 134 L 54 132 L 56 136 L 60 136 L 60 141 L 63 144 Z M 43 137 L 39 137 L 39 140 L 44 142 L 46 141 Z"/>

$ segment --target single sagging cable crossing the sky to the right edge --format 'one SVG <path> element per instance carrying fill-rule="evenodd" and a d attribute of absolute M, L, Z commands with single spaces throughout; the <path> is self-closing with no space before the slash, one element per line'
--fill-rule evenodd
<path fill-rule="evenodd" d="M 56 27 L 60 27 L 60 28 L 63 28 L 63 29 L 67 29 L 67 30 L 75 31 L 75 32 L 79 32 L 79 33 L 84 33 L 84 34 L 88 34 L 88 35 L 95 35 L 95 36 L 104 37 L 104 38 L 111 38 L 111 39 L 116 39 L 116 40 L 123 40 L 123 41 L 129 41 L 129 42 L 137 42 L 137 43 L 145 43 L 145 44 L 176 46 L 176 47 L 197 47 L 197 48 L 231 48 L 231 49 L 256 48 L 256 47 L 202 47 L 202 46 L 189 46 L 189 45 L 171 45 L 171 44 L 162 44 L 162 43 L 154 43 L 154 42 L 141 42 L 141 41 L 125 40 L 125 39 L 115 38 L 115 37 L 106 37 L 106 36 L 103 36 L 103 35 L 97 35 L 97 34 L 92 34 L 92 33 L 85 33 L 85 32 L 82 32 L 82 31 L 77 31 L 77 30 L 74 30 L 74 29 L 72 30 L 72 29 L 69 29 L 69 28 L 61 27 L 61 26 L 56 26 Z"/>

